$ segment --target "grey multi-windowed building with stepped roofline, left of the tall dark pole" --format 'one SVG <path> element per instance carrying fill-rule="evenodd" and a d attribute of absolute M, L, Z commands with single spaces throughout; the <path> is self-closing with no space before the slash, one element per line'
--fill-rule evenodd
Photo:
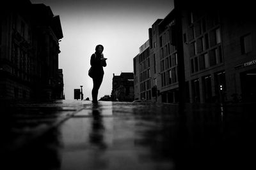
<path fill-rule="evenodd" d="M 172 25 L 174 13 L 158 19 L 148 29 L 148 41 L 140 47 L 140 53 L 134 57 L 134 79 L 138 77 L 140 89 L 136 89 L 137 99 L 147 101 L 177 103 L 179 85 L 177 80 L 177 50 L 172 45 Z M 145 52 L 141 52 L 146 46 Z M 138 73 L 137 73 L 137 72 Z M 138 84 L 138 83 L 137 83 Z M 140 94 L 140 97 L 138 97 Z"/>

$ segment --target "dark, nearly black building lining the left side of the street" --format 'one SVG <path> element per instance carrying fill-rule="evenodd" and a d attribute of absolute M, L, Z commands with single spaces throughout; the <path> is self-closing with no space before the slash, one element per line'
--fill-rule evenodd
<path fill-rule="evenodd" d="M 29 0 L 1 4 L 0 98 L 60 99 L 61 38 L 60 17 L 49 6 Z"/>

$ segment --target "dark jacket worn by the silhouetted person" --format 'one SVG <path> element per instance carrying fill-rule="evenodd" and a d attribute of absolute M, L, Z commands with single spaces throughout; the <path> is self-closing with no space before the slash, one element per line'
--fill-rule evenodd
<path fill-rule="evenodd" d="M 90 64 L 92 66 L 93 74 L 95 76 L 103 76 L 104 74 L 103 67 L 107 66 L 106 60 L 100 60 L 100 58 L 102 58 L 102 56 L 100 55 L 100 53 L 96 53 L 96 52 L 93 53 L 91 56 Z"/>

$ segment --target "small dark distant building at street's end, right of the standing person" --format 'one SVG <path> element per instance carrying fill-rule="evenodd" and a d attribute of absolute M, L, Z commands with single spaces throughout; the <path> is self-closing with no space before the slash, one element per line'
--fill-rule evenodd
<path fill-rule="evenodd" d="M 112 101 L 134 101 L 134 76 L 133 73 L 113 74 Z"/>

